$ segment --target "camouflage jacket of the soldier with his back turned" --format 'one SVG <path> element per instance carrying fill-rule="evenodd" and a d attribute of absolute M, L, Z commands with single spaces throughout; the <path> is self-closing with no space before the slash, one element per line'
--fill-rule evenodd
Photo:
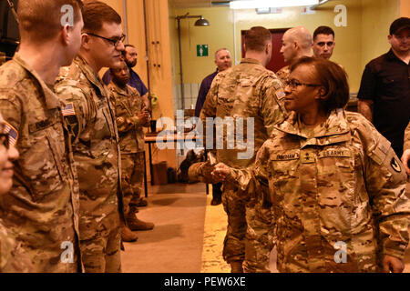
<path fill-rule="evenodd" d="M 283 97 L 281 81 L 257 60 L 245 58 L 240 65 L 220 72 L 200 113 L 205 146 L 216 148 L 218 161 L 228 166 L 251 166 L 272 126 L 284 119 Z M 208 117 L 220 117 L 228 124 L 222 134 L 216 126 L 213 145 L 211 136 L 207 136 Z M 241 140 L 243 143 L 238 143 Z"/>

